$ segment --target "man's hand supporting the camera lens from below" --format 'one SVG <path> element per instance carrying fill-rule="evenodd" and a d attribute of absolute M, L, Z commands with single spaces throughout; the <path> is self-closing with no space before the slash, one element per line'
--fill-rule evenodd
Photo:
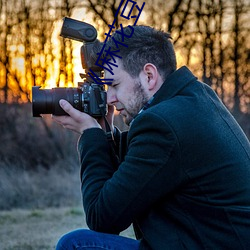
<path fill-rule="evenodd" d="M 101 128 L 96 119 L 73 108 L 69 102 L 60 100 L 59 104 L 69 116 L 52 116 L 52 118 L 64 128 L 68 128 L 80 134 L 88 128 Z"/>

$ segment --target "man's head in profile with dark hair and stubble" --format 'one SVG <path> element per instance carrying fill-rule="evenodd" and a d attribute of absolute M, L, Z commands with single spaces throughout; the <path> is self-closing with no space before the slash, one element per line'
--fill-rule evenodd
<path fill-rule="evenodd" d="M 129 27 L 116 31 L 106 43 L 110 51 L 119 50 L 120 56 L 120 59 L 115 57 L 118 67 L 112 67 L 114 75 L 105 70 L 105 78 L 114 79 L 108 88 L 108 103 L 115 105 L 126 124 L 176 70 L 175 52 L 168 33 L 148 26 L 133 26 L 133 29 L 132 36 Z M 126 36 L 122 36 L 122 32 Z"/>

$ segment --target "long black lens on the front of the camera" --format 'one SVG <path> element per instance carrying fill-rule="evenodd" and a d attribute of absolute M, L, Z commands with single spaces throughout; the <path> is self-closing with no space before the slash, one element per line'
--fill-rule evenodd
<path fill-rule="evenodd" d="M 32 110 L 34 117 L 40 114 L 67 115 L 59 100 L 67 100 L 74 108 L 81 109 L 81 90 L 78 88 L 39 89 L 32 87 Z"/>

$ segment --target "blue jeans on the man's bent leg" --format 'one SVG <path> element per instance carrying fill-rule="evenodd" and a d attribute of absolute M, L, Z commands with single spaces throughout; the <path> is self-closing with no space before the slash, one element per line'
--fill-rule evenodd
<path fill-rule="evenodd" d="M 140 241 L 123 236 L 79 229 L 64 235 L 58 241 L 56 250 L 138 250 L 139 244 Z"/>

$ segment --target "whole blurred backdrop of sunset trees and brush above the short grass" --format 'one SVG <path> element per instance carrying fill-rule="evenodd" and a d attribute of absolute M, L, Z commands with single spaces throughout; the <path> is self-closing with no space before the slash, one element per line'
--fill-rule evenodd
<path fill-rule="evenodd" d="M 0 0 L 0 210 L 81 203 L 78 135 L 50 116 L 33 118 L 31 89 L 77 87 L 82 44 L 59 36 L 62 18 L 91 23 L 103 41 L 120 2 Z M 178 67 L 218 93 L 248 138 L 249 20 L 249 0 L 147 0 L 137 22 L 171 33 Z M 134 20 L 119 16 L 121 23 Z M 126 129 L 119 117 L 116 123 Z"/>

